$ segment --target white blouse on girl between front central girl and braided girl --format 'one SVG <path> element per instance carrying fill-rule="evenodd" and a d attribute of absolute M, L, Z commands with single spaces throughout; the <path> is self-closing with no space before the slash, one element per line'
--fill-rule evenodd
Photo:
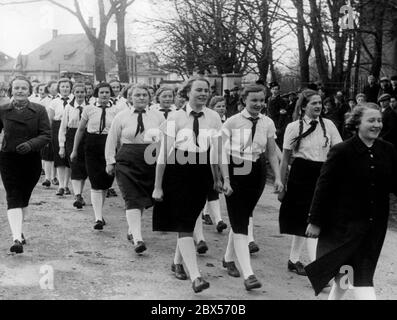
<path fill-rule="evenodd" d="M 228 118 L 222 127 L 222 140 L 228 156 L 256 161 L 266 151 L 268 138 L 276 138 L 276 127 L 269 117 L 259 114 L 255 136 L 252 139 L 253 123 L 246 109 Z M 252 143 L 251 140 L 252 139 Z"/>

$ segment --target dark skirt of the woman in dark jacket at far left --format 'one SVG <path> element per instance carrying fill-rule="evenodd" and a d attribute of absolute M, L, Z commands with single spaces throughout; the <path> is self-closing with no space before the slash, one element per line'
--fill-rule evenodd
<path fill-rule="evenodd" d="M 40 153 L 20 155 L 0 152 L 0 173 L 6 190 L 7 208 L 25 208 L 29 205 L 32 191 L 40 179 Z"/>

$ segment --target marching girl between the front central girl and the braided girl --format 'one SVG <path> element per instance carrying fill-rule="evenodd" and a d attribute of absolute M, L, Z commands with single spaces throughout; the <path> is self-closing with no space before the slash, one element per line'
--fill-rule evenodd
<path fill-rule="evenodd" d="M 241 96 L 245 108 L 227 119 L 222 128 L 225 151 L 230 159 L 224 179 L 230 180 L 233 190 L 230 196 L 226 196 L 231 230 L 222 263 L 229 275 L 239 277 L 240 272 L 234 262 L 234 255 L 237 256 L 247 290 L 262 286 L 251 267 L 248 225 L 265 187 L 265 151 L 275 174 L 275 191 L 283 189 L 276 153 L 276 128 L 269 117 L 261 114 L 265 107 L 264 90 L 260 85 L 245 87 Z"/>

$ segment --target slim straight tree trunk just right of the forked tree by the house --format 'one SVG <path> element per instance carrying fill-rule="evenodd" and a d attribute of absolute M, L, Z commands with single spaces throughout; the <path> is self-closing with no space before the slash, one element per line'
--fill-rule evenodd
<path fill-rule="evenodd" d="M 120 9 L 116 12 L 117 23 L 117 66 L 119 69 L 119 80 L 121 82 L 129 83 L 128 67 L 127 67 L 127 52 L 125 48 L 125 15 L 126 15 L 126 1 L 121 4 Z"/>

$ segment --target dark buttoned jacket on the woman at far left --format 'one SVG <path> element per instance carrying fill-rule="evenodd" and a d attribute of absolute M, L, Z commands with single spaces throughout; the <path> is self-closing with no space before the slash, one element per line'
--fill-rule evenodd
<path fill-rule="evenodd" d="M 51 128 L 45 107 L 29 102 L 17 111 L 14 102 L 0 106 L 0 132 L 4 130 L 2 152 L 15 152 L 16 147 L 28 142 L 32 152 L 39 152 L 51 140 Z"/>

